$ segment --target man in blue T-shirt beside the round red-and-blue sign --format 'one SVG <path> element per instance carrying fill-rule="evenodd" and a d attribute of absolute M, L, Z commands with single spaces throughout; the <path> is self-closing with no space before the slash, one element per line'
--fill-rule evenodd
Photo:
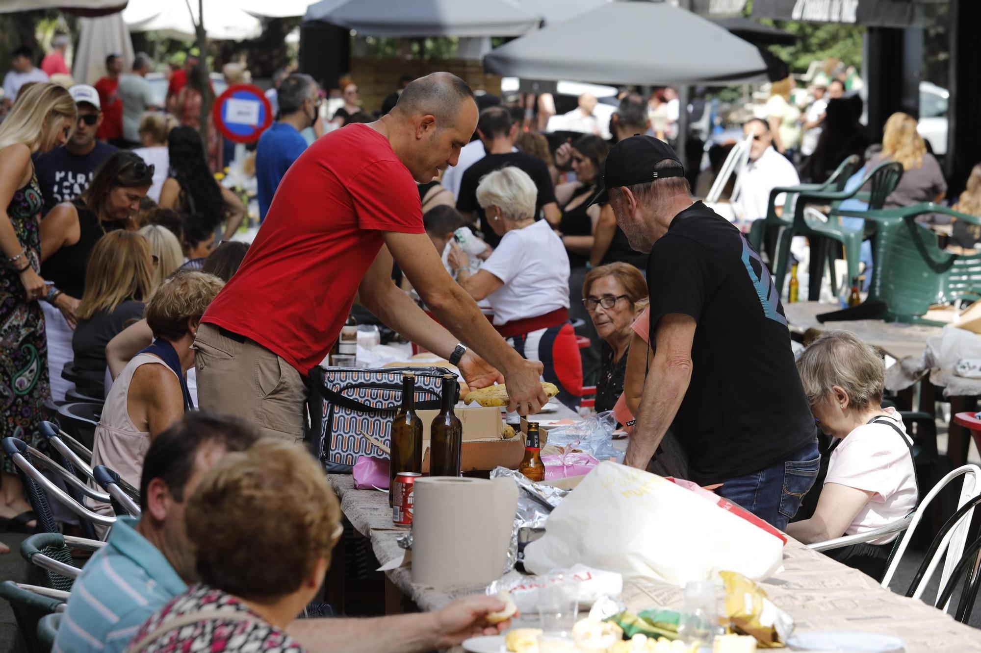
<path fill-rule="evenodd" d="M 259 220 L 265 220 L 280 180 L 306 150 L 303 129 L 317 122 L 320 93 L 310 75 L 289 75 L 277 92 L 280 118 L 259 137 L 255 151 L 255 177 L 258 183 Z"/>

